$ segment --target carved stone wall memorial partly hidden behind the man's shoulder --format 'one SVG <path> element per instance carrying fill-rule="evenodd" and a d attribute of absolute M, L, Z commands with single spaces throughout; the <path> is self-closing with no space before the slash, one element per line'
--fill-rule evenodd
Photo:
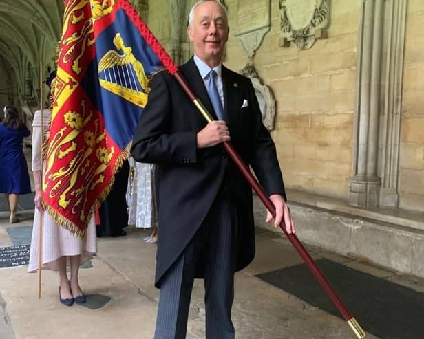
<path fill-rule="evenodd" d="M 248 63 L 240 73 L 251 79 L 261 109 L 262 122 L 268 131 L 271 131 L 274 129 L 275 121 L 275 97 L 271 88 L 262 83 L 262 79 L 259 78 L 259 74 L 251 63 Z"/>

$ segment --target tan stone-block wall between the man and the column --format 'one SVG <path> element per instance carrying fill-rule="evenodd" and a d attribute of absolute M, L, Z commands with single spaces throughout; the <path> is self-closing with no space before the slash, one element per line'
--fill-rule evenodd
<path fill-rule="evenodd" d="M 237 1 L 229 7 L 237 30 Z M 271 1 L 271 31 L 254 58 L 255 68 L 277 101 L 275 130 L 288 187 L 347 199 L 352 173 L 352 133 L 360 1 L 332 1 L 328 39 L 310 50 L 279 47 L 280 12 Z M 231 34 L 226 65 L 242 69 L 248 59 Z"/>

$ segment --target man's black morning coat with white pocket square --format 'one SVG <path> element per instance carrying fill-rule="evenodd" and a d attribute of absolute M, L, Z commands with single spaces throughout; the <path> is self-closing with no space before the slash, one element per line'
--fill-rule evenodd
<path fill-rule="evenodd" d="M 216 119 L 193 58 L 180 67 L 182 76 Z M 250 165 L 268 195 L 286 199 L 275 145 L 264 124 L 251 80 L 222 65 L 224 120 L 231 144 Z M 245 101 L 247 100 L 247 101 Z M 242 107 L 245 102 L 246 107 Z M 138 162 L 157 164 L 158 250 L 156 287 L 206 217 L 221 186 L 230 190 L 237 208 L 237 270 L 255 256 L 252 189 L 226 155 L 222 144 L 197 149 L 196 133 L 206 120 L 167 72 L 153 77 L 149 100 L 134 135 L 131 155 Z M 202 265 L 197 276 L 202 278 Z"/>

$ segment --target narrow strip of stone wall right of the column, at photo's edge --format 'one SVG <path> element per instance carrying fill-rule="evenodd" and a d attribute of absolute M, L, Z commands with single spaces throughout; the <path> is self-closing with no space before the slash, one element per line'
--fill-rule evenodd
<path fill-rule="evenodd" d="M 424 206 L 424 1 L 407 8 L 403 109 L 401 117 L 401 207 Z"/>

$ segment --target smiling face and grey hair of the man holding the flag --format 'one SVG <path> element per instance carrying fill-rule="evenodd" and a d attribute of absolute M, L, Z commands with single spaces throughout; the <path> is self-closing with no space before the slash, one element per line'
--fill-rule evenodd
<path fill-rule="evenodd" d="M 215 1 L 200 3 L 193 13 L 193 25 L 187 28 L 187 32 L 195 54 L 211 67 L 218 65 L 229 37 L 229 26 L 220 4 Z"/>

